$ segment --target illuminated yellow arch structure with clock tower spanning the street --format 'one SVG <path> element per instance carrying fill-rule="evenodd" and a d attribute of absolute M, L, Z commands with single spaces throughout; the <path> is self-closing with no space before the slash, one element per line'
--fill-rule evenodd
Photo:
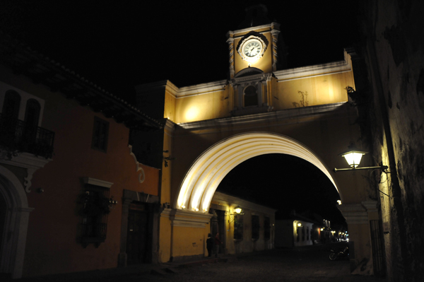
<path fill-rule="evenodd" d="M 211 232 L 208 211 L 223 177 L 244 160 L 283 153 L 307 160 L 329 177 L 355 242 L 352 270 L 372 274 L 369 220 L 378 217 L 377 202 L 367 194 L 364 172 L 330 170 L 346 166 L 338 153 L 360 140 L 357 112 L 346 93 L 347 86 L 355 88 L 353 51 L 329 64 L 278 69 L 278 58 L 284 58 L 278 57 L 279 28 L 266 23 L 228 32 L 227 80 L 136 87 L 139 107 L 167 119 L 158 141 L 169 160 L 162 167 L 160 201 L 170 205 L 160 215 L 160 262 L 203 257 L 191 242 Z"/>

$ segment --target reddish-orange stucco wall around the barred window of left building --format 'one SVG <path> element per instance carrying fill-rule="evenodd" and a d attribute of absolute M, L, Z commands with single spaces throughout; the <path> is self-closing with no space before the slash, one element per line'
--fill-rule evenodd
<path fill-rule="evenodd" d="M 159 170 L 140 164 L 145 178 L 139 183 L 136 160 L 130 155 L 129 129 L 51 93 L 42 85 L 34 86 L 23 76 L 3 70 L 5 83 L 45 100 L 41 127 L 54 131 L 54 156 L 45 168 L 33 175 L 27 194 L 30 213 L 23 276 L 66 273 L 117 266 L 122 219 L 123 189 L 158 195 Z M 91 148 L 94 117 L 109 122 L 107 153 Z M 108 215 L 107 236 L 98 248 L 80 243 L 81 216 L 78 196 L 83 193 L 83 177 L 112 182 L 110 196 L 118 201 Z M 38 188 L 44 192 L 37 193 Z"/>

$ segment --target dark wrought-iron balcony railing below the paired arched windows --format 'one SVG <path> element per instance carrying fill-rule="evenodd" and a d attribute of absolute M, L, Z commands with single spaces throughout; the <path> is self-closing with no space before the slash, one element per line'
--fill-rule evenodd
<path fill-rule="evenodd" d="M 25 152 L 52 158 L 54 132 L 0 113 L 0 148 L 11 155 Z"/>

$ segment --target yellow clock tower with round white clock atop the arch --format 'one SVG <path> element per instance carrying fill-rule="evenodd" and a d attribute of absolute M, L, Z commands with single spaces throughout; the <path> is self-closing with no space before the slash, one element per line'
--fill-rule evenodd
<path fill-rule="evenodd" d="M 273 72 L 285 66 L 285 52 L 278 52 L 284 50 L 283 40 L 278 40 L 280 24 L 271 22 L 266 12 L 264 5 L 250 6 L 239 28 L 227 33 L 234 105 L 232 116 L 273 109 Z M 278 53 L 282 56 L 278 57 Z"/>

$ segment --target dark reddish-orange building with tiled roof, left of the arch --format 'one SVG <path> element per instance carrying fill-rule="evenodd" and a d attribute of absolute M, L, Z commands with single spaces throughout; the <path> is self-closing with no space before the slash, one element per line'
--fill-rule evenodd
<path fill-rule="evenodd" d="M 129 131 L 161 125 L 6 36 L 0 52 L 0 273 L 157 261 L 160 170 Z"/>

